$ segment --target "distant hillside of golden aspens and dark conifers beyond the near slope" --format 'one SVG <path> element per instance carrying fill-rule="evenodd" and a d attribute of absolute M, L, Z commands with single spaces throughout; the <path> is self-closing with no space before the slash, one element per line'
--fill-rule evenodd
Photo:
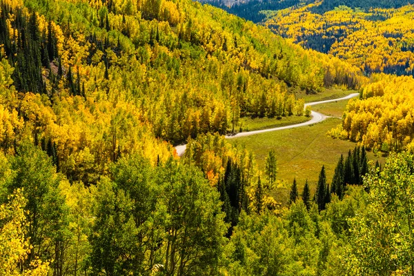
<path fill-rule="evenodd" d="M 265 24 L 304 48 L 349 61 L 367 74 L 413 75 L 413 6 L 392 8 L 402 4 L 393 1 L 393 5 L 377 3 L 381 8 L 374 4 L 368 8 L 367 1 L 362 7 L 365 9 L 339 6 L 328 10 L 325 2 L 336 3 L 323 1 L 293 10 L 266 12 Z"/>

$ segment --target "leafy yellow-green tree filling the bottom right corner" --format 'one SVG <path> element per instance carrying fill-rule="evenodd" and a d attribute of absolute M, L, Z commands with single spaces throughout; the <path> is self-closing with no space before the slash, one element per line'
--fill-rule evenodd
<path fill-rule="evenodd" d="M 351 219 L 347 269 L 365 275 L 414 273 L 413 155 L 391 155 L 384 170 L 371 170 L 366 211 Z"/>

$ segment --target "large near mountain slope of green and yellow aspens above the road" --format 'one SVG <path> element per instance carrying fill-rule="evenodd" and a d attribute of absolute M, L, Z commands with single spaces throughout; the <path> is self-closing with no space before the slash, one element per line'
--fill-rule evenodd
<path fill-rule="evenodd" d="M 26 136 L 55 145 L 74 175 L 73 162 L 106 170 L 141 141 L 225 133 L 250 114 L 300 115 L 303 102 L 289 87 L 316 92 L 362 80 L 346 63 L 188 0 L 7 1 L 1 24 L 1 103 L 18 114 L 8 124 L 26 129 L 10 132 L 4 147 L 12 152 Z"/>

